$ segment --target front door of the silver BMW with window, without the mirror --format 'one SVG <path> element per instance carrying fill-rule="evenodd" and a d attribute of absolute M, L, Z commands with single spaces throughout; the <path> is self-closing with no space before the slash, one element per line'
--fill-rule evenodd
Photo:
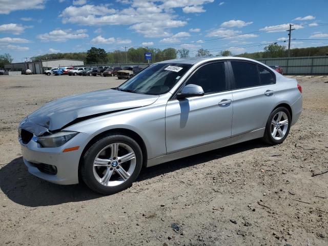
<path fill-rule="evenodd" d="M 231 136 L 232 93 L 224 62 L 198 68 L 186 84 L 201 86 L 205 95 L 173 98 L 166 108 L 166 146 L 172 153 Z M 222 103 L 226 101 L 226 103 Z"/>

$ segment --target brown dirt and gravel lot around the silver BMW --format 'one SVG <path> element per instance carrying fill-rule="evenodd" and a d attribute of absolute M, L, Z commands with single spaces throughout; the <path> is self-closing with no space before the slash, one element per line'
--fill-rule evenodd
<path fill-rule="evenodd" d="M 50 100 L 122 80 L 0 76 L 0 244 L 328 245 L 328 173 L 311 176 L 328 168 L 328 77 L 296 78 L 304 111 L 282 145 L 253 140 L 164 163 L 100 196 L 30 175 L 16 128 Z"/>

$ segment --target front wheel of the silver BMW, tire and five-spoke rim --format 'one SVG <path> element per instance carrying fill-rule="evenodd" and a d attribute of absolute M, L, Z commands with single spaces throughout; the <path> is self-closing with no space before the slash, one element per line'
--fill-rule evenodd
<path fill-rule="evenodd" d="M 142 152 L 126 135 L 107 135 L 85 153 L 81 175 L 95 192 L 114 194 L 127 189 L 142 167 Z"/>

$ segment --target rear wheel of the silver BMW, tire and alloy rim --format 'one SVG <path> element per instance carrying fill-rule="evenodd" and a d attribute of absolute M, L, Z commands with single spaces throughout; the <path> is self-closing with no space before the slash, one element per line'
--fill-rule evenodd
<path fill-rule="evenodd" d="M 263 140 L 271 145 L 281 144 L 288 136 L 290 128 L 290 112 L 284 107 L 277 108 L 270 114 Z"/>

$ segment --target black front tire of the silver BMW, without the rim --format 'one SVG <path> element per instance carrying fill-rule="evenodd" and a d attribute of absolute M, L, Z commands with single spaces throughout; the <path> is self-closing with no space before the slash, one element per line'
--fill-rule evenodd
<path fill-rule="evenodd" d="M 133 149 L 136 156 L 136 166 L 131 176 L 124 183 L 115 187 L 107 187 L 101 185 L 94 177 L 93 162 L 97 154 L 102 149 L 115 142 L 121 142 L 123 144 L 130 146 Z M 122 135 L 120 133 L 114 133 L 101 137 L 85 152 L 83 156 L 83 163 L 80 168 L 80 174 L 81 177 L 83 178 L 83 181 L 91 190 L 97 193 L 111 195 L 129 188 L 132 185 L 133 181 L 138 177 L 141 167 L 142 167 L 142 152 L 137 142 L 133 140 L 131 137 L 128 137 L 126 135 Z"/>

